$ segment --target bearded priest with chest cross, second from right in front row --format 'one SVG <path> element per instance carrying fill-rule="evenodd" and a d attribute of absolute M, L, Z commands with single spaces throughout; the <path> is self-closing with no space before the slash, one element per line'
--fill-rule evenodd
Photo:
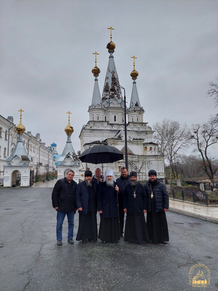
<path fill-rule="evenodd" d="M 125 187 L 123 205 L 126 213 L 124 241 L 134 244 L 149 243 L 144 214 L 147 211 L 147 194 L 139 182 L 137 173 L 130 173 L 130 183 Z"/>

